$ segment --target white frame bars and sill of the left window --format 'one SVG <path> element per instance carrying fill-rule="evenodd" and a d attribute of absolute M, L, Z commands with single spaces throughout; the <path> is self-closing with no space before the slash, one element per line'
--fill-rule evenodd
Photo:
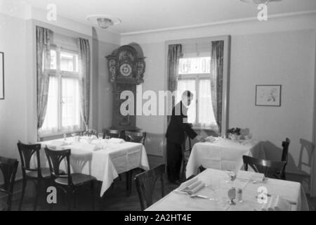
<path fill-rule="evenodd" d="M 70 49 L 65 49 L 62 48 L 60 46 L 56 46 L 55 44 L 51 45 L 51 51 L 55 51 L 56 53 L 56 69 L 49 69 L 48 71 L 48 76 L 49 77 L 57 77 L 58 79 L 58 116 L 57 116 L 57 131 L 53 131 L 53 132 L 46 132 L 46 131 L 41 131 L 41 137 L 48 137 L 48 136 L 56 136 L 59 134 L 65 134 L 65 133 L 72 133 L 72 132 L 81 132 L 84 131 L 83 127 L 84 127 L 84 122 L 81 118 L 81 116 L 79 116 L 79 129 L 74 129 L 74 130 L 66 130 L 66 129 L 62 129 L 62 104 L 64 104 L 62 102 L 62 78 L 64 77 L 68 77 L 68 78 L 74 78 L 74 79 L 78 79 L 79 80 L 79 71 L 78 72 L 72 72 L 72 71 L 66 71 L 66 70 L 61 70 L 60 69 L 60 54 L 62 52 L 65 53 L 71 53 L 74 55 L 77 55 L 78 57 L 78 61 L 79 61 L 79 53 L 77 51 L 73 51 Z M 78 65 L 74 65 L 78 67 L 79 70 L 79 63 Z"/>

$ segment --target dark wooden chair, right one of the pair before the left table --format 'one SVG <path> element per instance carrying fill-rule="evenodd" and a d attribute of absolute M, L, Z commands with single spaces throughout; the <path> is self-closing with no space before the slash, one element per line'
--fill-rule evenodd
<path fill-rule="evenodd" d="M 75 195 L 81 186 L 90 184 L 91 189 L 91 203 L 92 209 L 94 210 L 94 188 L 93 181 L 96 180 L 94 176 L 81 174 L 81 173 L 71 173 L 70 172 L 70 154 L 71 150 L 52 150 L 45 148 L 46 157 L 48 159 L 49 169 L 51 171 L 51 176 L 53 178 L 53 183 L 56 188 L 59 188 L 68 199 L 68 210 L 71 209 L 72 203 L 75 203 Z M 67 173 L 60 174 L 60 163 L 66 162 Z"/>

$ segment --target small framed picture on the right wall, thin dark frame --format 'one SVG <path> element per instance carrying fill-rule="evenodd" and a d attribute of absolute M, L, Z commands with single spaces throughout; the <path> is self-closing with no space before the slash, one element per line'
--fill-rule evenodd
<path fill-rule="evenodd" d="M 256 85 L 257 106 L 281 106 L 281 85 Z"/>

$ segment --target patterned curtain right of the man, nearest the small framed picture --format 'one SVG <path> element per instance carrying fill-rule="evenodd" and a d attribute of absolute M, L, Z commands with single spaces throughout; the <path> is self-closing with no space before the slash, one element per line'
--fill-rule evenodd
<path fill-rule="evenodd" d="M 222 97 L 223 97 L 223 51 L 224 41 L 211 43 L 211 99 L 213 112 L 218 131 L 221 132 L 222 124 Z"/>

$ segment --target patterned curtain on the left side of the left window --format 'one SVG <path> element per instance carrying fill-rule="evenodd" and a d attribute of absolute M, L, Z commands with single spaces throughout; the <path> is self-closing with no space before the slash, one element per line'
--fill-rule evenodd
<path fill-rule="evenodd" d="M 37 130 L 44 123 L 51 68 L 51 37 L 53 32 L 37 27 Z"/>

